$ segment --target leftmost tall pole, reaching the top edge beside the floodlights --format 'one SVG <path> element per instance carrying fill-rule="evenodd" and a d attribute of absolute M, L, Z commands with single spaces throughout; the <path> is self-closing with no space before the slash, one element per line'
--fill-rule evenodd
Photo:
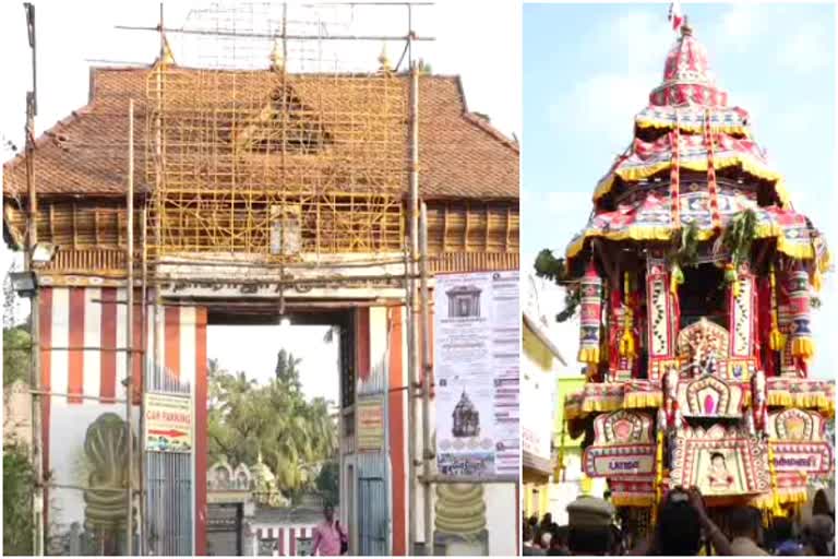
<path fill-rule="evenodd" d="M 28 223 L 26 229 L 28 239 L 24 254 L 24 270 L 33 270 L 33 253 L 38 243 L 38 199 L 35 191 L 35 115 L 37 115 L 37 67 L 35 45 L 35 5 L 29 2 L 23 4 L 26 11 L 26 29 L 28 32 L 29 48 L 32 49 L 32 91 L 26 93 L 26 191 L 28 193 Z M 44 462 L 41 440 L 41 399 L 40 394 L 40 297 L 38 295 L 37 277 L 35 294 L 29 299 L 29 322 L 32 348 L 29 355 L 29 388 L 32 394 L 32 465 L 35 472 L 35 487 L 32 492 L 32 554 L 44 555 L 44 538 L 46 533 L 47 508 L 44 502 Z"/>

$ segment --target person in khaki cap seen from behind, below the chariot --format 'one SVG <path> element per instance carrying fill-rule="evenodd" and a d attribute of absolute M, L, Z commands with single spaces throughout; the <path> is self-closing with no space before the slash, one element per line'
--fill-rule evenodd
<path fill-rule="evenodd" d="M 604 499 L 582 496 L 567 506 L 571 555 L 604 556 L 611 551 L 614 508 Z"/>

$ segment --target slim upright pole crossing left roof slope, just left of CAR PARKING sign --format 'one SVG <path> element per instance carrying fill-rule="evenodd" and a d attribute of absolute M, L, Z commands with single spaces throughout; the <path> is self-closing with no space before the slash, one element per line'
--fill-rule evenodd
<path fill-rule="evenodd" d="M 134 522 L 133 522 L 133 484 L 134 484 L 134 439 L 131 428 L 131 406 L 134 399 L 134 99 L 128 100 L 128 193 L 125 194 L 128 206 L 128 237 L 125 247 L 125 297 L 128 309 L 125 311 L 125 377 L 128 381 L 128 396 L 125 397 L 125 428 L 128 429 L 128 519 L 125 520 L 125 555 L 133 554 Z"/>

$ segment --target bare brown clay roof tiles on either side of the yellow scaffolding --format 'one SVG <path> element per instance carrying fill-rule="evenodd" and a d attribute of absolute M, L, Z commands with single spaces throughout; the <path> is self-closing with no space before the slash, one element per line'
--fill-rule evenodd
<path fill-rule="evenodd" d="M 120 195 L 124 192 L 128 99 L 132 97 L 136 99 L 135 185 L 137 189 L 147 188 L 143 173 L 143 99 L 147 76 L 147 68 L 92 70 L 89 104 L 57 122 L 36 142 L 38 193 Z M 396 75 L 393 80 L 400 84 L 407 107 L 409 78 Z M 299 85 L 306 102 L 304 79 L 300 79 Z M 468 111 L 459 78 L 422 76 L 419 103 L 420 195 L 428 200 L 518 199 L 518 145 L 486 119 Z M 407 115 L 404 127 L 407 134 Z M 405 166 L 407 169 L 407 154 Z M 3 165 L 4 197 L 25 193 L 25 168 L 23 155 Z M 407 173 L 405 191 L 406 177 Z"/>

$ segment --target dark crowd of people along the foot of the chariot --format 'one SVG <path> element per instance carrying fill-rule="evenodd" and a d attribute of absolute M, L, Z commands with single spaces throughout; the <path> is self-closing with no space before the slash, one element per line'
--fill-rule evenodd
<path fill-rule="evenodd" d="M 766 528 L 753 507 L 727 511 L 725 530 L 716 525 L 697 488 L 670 490 L 658 509 L 654 531 L 633 540 L 606 499 L 582 496 L 567 506 L 567 525 L 550 513 L 523 520 L 525 556 L 834 556 L 835 511 L 814 507 L 798 527 L 775 518 Z"/>

